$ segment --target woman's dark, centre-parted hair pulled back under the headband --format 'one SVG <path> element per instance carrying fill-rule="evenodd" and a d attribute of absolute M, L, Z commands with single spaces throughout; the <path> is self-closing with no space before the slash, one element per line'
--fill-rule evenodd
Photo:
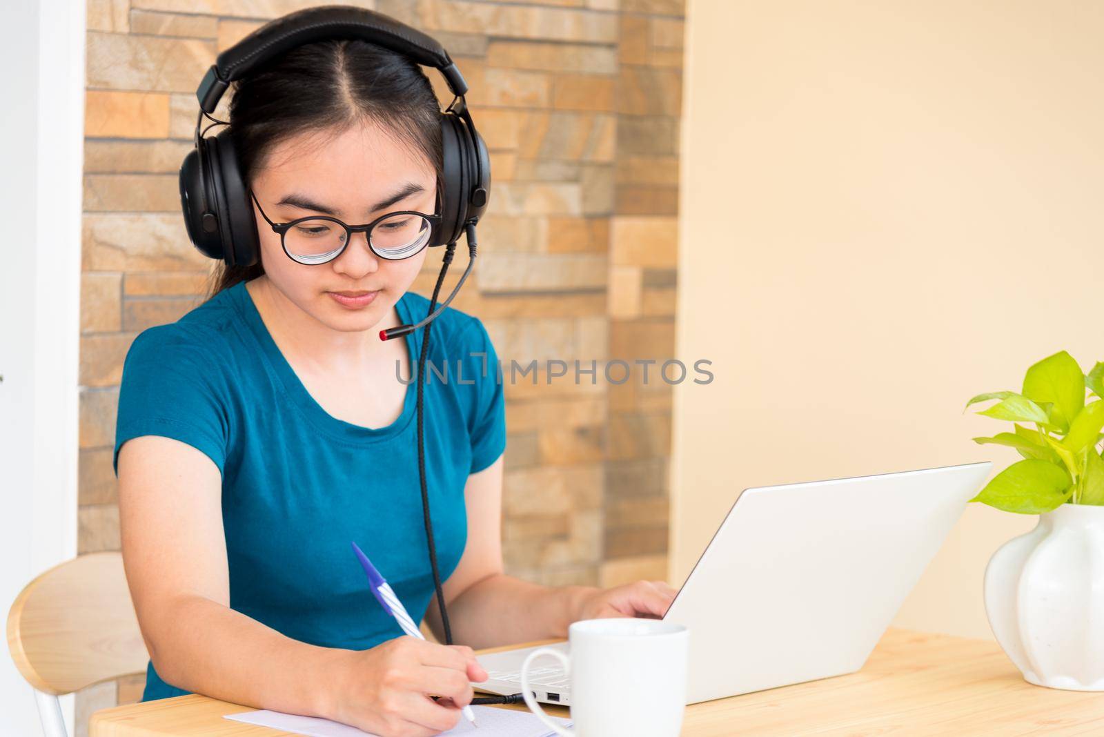
<path fill-rule="evenodd" d="M 371 121 L 396 141 L 425 154 L 443 183 L 440 108 L 428 77 L 411 57 L 361 40 L 297 46 L 233 85 L 230 132 L 246 184 L 282 141 L 307 131 L 332 140 Z M 264 274 L 253 266 L 219 263 L 208 299 Z"/>

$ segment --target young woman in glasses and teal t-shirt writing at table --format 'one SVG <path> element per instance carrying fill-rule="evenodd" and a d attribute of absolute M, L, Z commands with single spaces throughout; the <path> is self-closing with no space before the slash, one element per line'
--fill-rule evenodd
<path fill-rule="evenodd" d="M 487 677 L 471 648 L 670 605 L 662 581 L 544 587 L 503 575 L 502 386 L 482 324 L 450 308 L 434 323 L 428 361 L 452 372 L 459 362 L 465 383 L 455 373 L 426 383 L 425 444 L 444 598 L 463 644 L 400 637 L 369 591 L 350 542 L 444 640 L 415 386 L 399 380 L 413 373 L 423 331 L 379 339 L 426 313 L 428 300 L 407 291 L 426 249 L 380 257 L 422 221 L 339 236 L 329 260 L 312 245 L 328 237 L 325 221 L 283 239 L 272 224 L 433 215 L 437 115 L 417 64 L 363 41 L 300 46 L 237 83 L 230 124 L 261 263 L 221 266 L 206 302 L 141 332 L 119 394 L 123 553 L 150 652 L 144 701 L 200 692 L 381 735 L 432 735 L 458 722 L 470 682 Z"/>

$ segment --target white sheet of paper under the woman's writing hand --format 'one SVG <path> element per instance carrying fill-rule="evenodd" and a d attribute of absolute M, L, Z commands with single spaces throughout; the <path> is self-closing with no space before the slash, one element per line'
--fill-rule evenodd
<path fill-rule="evenodd" d="M 460 717 L 459 724 L 442 735 L 479 735 L 479 737 L 554 737 L 555 733 L 550 731 L 540 719 L 529 712 L 516 709 L 497 708 L 493 706 L 473 706 L 476 713 L 478 727 L 473 727 L 471 723 Z M 370 733 L 362 731 L 357 727 L 347 724 L 330 722 L 315 716 L 299 716 L 297 714 L 284 714 L 282 712 L 270 712 L 261 709 L 258 712 L 242 712 L 240 714 L 227 714 L 227 719 L 255 724 L 262 727 L 273 727 L 308 737 L 374 737 Z M 564 727 L 571 726 L 571 719 L 549 716 L 550 719 Z"/>

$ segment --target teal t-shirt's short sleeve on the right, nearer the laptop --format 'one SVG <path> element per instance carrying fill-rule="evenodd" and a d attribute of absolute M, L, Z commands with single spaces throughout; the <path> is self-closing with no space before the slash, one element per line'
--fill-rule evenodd
<path fill-rule="evenodd" d="M 468 417 L 468 437 L 471 439 L 471 468 L 469 473 L 481 471 L 506 450 L 506 400 L 498 354 L 482 322 L 473 318 L 474 327 L 464 346 L 461 361 L 466 364 L 465 377 L 475 378 L 475 397 Z"/>

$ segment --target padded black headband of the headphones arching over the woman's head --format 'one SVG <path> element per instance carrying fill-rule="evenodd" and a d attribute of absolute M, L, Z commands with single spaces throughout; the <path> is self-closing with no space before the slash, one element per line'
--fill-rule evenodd
<path fill-rule="evenodd" d="M 319 6 L 269 21 L 219 54 L 195 90 L 200 108 L 214 113 L 230 83 L 296 46 L 329 39 L 361 39 L 397 51 L 439 70 L 457 97 L 468 92 L 460 71 L 435 39 L 374 10 Z"/>

